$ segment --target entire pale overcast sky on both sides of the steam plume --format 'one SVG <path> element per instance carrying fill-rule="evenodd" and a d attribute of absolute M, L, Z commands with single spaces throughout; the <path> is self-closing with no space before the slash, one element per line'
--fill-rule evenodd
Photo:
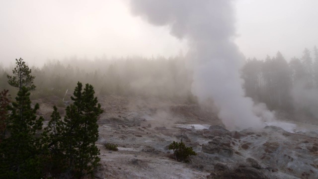
<path fill-rule="evenodd" d="M 318 45 L 318 0 L 236 0 L 236 42 L 248 57 L 286 60 Z M 174 56 L 186 40 L 132 16 L 128 0 L 0 0 L 0 63 L 72 56 Z M 42 62 L 42 63 L 41 63 Z"/>

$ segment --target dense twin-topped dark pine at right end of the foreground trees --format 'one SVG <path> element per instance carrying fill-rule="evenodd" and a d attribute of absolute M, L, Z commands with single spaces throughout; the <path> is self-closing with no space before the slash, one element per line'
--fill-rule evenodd
<path fill-rule="evenodd" d="M 98 139 L 97 117 L 102 110 L 91 85 L 86 84 L 82 91 L 82 84 L 78 83 L 73 95 L 71 99 L 74 104 L 66 108 L 60 146 L 68 166 L 77 177 L 81 177 L 85 173 L 92 173 L 100 161 L 95 142 Z"/>

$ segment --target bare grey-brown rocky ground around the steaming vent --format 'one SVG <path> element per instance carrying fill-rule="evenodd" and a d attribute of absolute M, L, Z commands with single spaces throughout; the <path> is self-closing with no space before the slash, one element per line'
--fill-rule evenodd
<path fill-rule="evenodd" d="M 212 109 L 183 100 L 117 95 L 98 100 L 104 113 L 98 119 L 96 144 L 102 165 L 96 178 L 318 178 L 316 125 L 297 123 L 285 128 L 286 123 L 272 123 L 258 130 L 229 131 Z M 39 115 L 48 120 L 51 105 L 42 103 Z M 181 136 L 198 154 L 189 163 L 170 158 L 167 146 Z M 105 143 L 117 144 L 118 151 L 106 150 Z"/>

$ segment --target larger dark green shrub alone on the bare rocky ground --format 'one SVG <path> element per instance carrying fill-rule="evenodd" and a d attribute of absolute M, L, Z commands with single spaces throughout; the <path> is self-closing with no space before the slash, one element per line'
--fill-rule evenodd
<path fill-rule="evenodd" d="M 192 147 L 186 147 L 185 144 L 181 142 L 173 141 L 169 147 L 169 150 L 173 151 L 174 157 L 177 161 L 187 162 L 187 158 L 192 155 L 197 155 L 192 149 Z"/>

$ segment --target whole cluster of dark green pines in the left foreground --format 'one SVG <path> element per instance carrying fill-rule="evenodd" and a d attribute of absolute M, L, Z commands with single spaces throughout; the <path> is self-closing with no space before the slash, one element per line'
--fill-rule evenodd
<path fill-rule="evenodd" d="M 97 117 L 103 111 L 94 88 L 78 82 L 62 119 L 57 107 L 47 127 L 36 115 L 39 104 L 31 105 L 35 79 L 22 59 L 16 60 L 8 84 L 17 89 L 11 101 L 8 90 L 0 92 L 0 178 L 81 178 L 92 174 L 100 161 L 95 146 Z"/>

